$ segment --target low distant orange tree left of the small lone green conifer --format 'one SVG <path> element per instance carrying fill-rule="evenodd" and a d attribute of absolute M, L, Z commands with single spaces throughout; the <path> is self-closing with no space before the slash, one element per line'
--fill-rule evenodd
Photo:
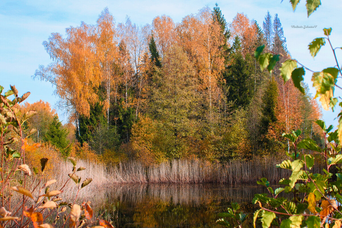
<path fill-rule="evenodd" d="M 37 111 L 37 115 L 31 117 L 27 121 L 28 128 L 37 129 L 36 141 L 40 142 L 41 138 L 49 130 L 49 124 L 52 122 L 53 118 L 57 115 L 55 109 L 51 109 L 51 105 L 49 102 L 44 102 L 43 100 L 39 100 L 35 103 L 25 102 L 24 105 L 21 106 L 22 113 L 25 113 L 29 110 Z"/>

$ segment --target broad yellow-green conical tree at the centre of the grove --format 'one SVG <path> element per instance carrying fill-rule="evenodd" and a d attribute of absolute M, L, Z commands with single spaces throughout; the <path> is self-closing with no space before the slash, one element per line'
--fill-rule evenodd
<path fill-rule="evenodd" d="M 180 46 L 172 46 L 165 54 L 156 83 L 160 87 L 152 95 L 151 114 L 159 122 L 159 134 L 166 136 L 162 148 L 167 156 L 179 158 L 186 152 L 186 138 L 196 131 L 201 116 L 195 72 Z"/>

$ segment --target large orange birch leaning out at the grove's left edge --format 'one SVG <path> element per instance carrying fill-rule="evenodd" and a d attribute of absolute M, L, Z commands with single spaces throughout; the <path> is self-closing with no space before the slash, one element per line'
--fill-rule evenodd
<path fill-rule="evenodd" d="M 99 102 L 98 89 L 102 82 L 97 63 L 95 27 L 82 23 L 66 29 L 66 38 L 52 33 L 43 45 L 54 62 L 39 66 L 34 78 L 51 82 L 61 99 L 61 107 L 71 117 L 89 116 L 90 107 Z M 74 115 L 72 115 L 74 114 Z"/>

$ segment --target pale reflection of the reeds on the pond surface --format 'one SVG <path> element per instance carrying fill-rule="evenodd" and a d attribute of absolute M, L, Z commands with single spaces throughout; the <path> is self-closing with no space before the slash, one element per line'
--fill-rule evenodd
<path fill-rule="evenodd" d="M 226 186 L 211 184 L 146 184 L 116 185 L 107 191 L 110 201 L 130 204 L 148 201 L 166 201 L 174 204 L 200 205 L 212 200 L 250 202 L 254 194 L 264 193 L 262 186 Z"/>

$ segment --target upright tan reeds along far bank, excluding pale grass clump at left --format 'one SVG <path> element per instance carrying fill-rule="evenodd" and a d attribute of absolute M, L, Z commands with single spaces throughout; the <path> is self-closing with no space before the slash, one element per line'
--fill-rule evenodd
<path fill-rule="evenodd" d="M 287 178 L 290 171 L 276 168 L 282 160 L 254 158 L 249 161 L 229 161 L 224 164 L 200 160 L 171 160 L 158 165 L 145 166 L 139 161 L 120 163 L 111 167 L 113 183 L 256 183 L 266 177 L 271 183 Z M 320 165 L 314 172 L 322 170 Z"/>

